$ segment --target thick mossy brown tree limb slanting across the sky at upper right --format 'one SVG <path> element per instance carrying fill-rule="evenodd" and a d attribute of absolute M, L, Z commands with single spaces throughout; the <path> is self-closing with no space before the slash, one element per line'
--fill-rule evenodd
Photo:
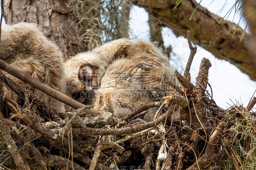
<path fill-rule="evenodd" d="M 221 21 L 218 24 L 221 17 L 200 5 L 192 19 L 189 20 L 197 6 L 196 1 L 183 0 L 174 9 L 176 2 L 176 0 L 157 0 L 157 2 L 147 0 L 143 3 L 138 1 L 138 5 L 161 20 L 163 26 L 172 28 L 177 36 L 186 37 L 187 30 L 191 30 L 192 41 L 197 41 L 199 46 L 201 42 L 206 42 L 202 45 L 204 49 L 211 52 L 215 57 L 236 65 L 242 72 L 256 81 L 255 56 L 248 55 L 253 44 L 250 34 L 245 33 L 243 40 L 240 41 L 244 31 L 241 27 L 236 28 L 236 25 L 230 21 Z M 236 33 L 232 37 L 235 31 Z"/>

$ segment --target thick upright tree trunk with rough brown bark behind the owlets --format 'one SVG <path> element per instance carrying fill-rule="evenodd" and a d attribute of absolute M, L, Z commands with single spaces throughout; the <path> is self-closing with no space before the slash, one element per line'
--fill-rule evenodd
<path fill-rule="evenodd" d="M 38 24 L 44 35 L 56 42 L 65 59 L 85 50 L 79 40 L 72 8 L 66 6 L 68 0 L 2 0 L 2 3 L 6 24 Z"/>

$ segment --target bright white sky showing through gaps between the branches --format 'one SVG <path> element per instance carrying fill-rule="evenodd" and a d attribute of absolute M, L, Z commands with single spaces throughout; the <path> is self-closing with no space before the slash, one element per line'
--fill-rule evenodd
<path fill-rule="evenodd" d="M 224 17 L 227 11 L 229 11 L 229 9 L 235 3 L 235 1 L 227 1 L 223 10 L 221 11 L 225 1 L 214 0 L 209 6 L 211 2 L 212 1 L 204 0 L 201 2 L 201 5 L 206 7 L 208 11 L 211 11 L 212 13 L 215 13 L 221 17 Z M 240 12 L 235 15 L 235 23 L 238 23 L 240 19 L 239 14 Z M 130 26 L 134 31 L 134 34 L 138 38 L 148 39 L 149 26 L 147 23 L 147 12 L 142 8 L 134 6 L 134 8 L 131 10 L 130 17 L 132 18 Z M 228 20 L 232 21 L 233 17 L 234 11 L 229 15 Z M 241 22 L 239 25 L 244 28 L 246 25 L 246 21 L 243 20 L 243 22 Z M 177 70 L 179 72 L 184 70 L 188 60 L 188 56 L 190 54 L 189 48 L 184 47 L 184 44 L 187 43 L 187 39 L 183 37 L 176 38 L 170 28 L 163 28 L 162 34 L 164 42 L 166 43 L 164 45 L 169 46 L 169 44 L 171 44 L 173 48 L 172 51 L 175 54 L 175 56 L 171 56 L 171 58 L 173 59 L 170 62 L 171 65 L 176 67 L 178 65 Z M 227 61 L 215 58 L 210 52 L 204 50 L 199 46 L 197 46 L 197 52 L 190 70 L 191 81 L 193 82 L 193 84 L 195 84 L 195 78 L 197 77 L 199 66 L 203 57 L 208 58 L 212 63 L 212 67 L 210 67 L 209 69 L 208 78 L 209 83 L 212 86 L 213 99 L 216 101 L 217 105 L 225 109 L 229 107 L 228 104 L 233 105 L 233 103 L 231 102 L 232 100 L 235 104 L 237 103 L 236 101 L 239 101 L 239 104 L 241 104 L 242 101 L 242 104 L 244 104 L 244 106 L 247 106 L 253 92 L 256 89 L 256 83 L 250 80 L 250 78 L 246 74 L 242 73 L 239 69 L 237 69 L 236 66 L 230 64 Z M 208 90 L 210 91 L 210 89 Z"/>

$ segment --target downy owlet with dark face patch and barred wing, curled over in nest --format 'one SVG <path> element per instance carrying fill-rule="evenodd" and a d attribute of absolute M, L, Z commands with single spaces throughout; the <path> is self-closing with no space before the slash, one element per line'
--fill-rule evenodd
<path fill-rule="evenodd" d="M 177 84 L 167 57 L 155 44 L 144 40 L 114 40 L 76 55 L 65 65 L 69 95 L 94 91 L 94 109 L 119 118 L 149 100 L 172 93 L 166 82 Z M 152 119 L 155 113 L 156 109 L 150 109 L 146 119 Z"/>

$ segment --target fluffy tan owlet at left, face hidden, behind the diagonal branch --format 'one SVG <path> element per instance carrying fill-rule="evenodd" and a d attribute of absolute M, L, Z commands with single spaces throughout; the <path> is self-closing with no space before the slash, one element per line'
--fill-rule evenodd
<path fill-rule="evenodd" d="M 65 91 L 62 53 L 31 23 L 5 25 L 1 31 L 0 59 L 59 92 Z M 20 85 L 19 79 L 6 74 Z M 36 90 L 35 95 L 57 110 L 61 102 Z"/>

